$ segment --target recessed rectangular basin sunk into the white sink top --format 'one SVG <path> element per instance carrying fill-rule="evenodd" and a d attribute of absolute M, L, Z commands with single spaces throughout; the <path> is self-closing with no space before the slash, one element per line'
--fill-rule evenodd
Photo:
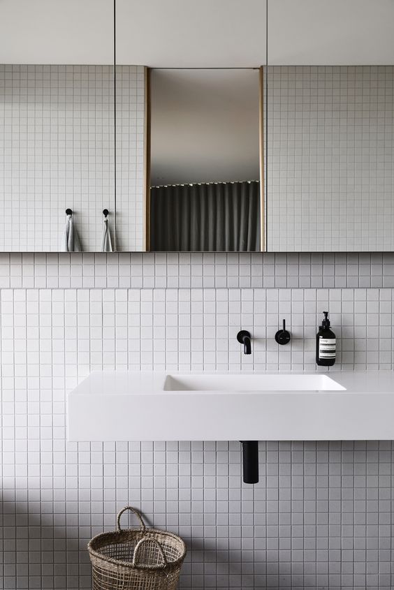
<path fill-rule="evenodd" d="M 167 375 L 164 391 L 343 391 L 343 385 L 323 374 Z"/>

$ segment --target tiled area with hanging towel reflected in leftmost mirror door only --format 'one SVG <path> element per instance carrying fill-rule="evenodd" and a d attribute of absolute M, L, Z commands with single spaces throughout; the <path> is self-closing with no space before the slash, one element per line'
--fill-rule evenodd
<path fill-rule="evenodd" d="M 112 66 L 0 65 L 0 251 L 108 251 L 114 110 Z"/>

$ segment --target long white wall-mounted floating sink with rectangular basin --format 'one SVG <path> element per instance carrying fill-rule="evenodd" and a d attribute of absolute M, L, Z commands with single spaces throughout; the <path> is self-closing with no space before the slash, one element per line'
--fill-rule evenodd
<path fill-rule="evenodd" d="M 393 440 L 392 371 L 96 371 L 68 394 L 69 441 Z"/>

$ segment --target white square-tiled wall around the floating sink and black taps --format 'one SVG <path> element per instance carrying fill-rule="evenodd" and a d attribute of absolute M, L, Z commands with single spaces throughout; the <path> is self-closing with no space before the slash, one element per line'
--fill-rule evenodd
<path fill-rule="evenodd" d="M 92 265 L 78 258 L 80 274 L 73 257 L 65 266 L 89 276 Z M 38 255 L 31 265 L 14 262 L 37 280 L 51 266 L 65 276 L 63 265 Z M 162 265 L 149 258 L 133 270 L 159 279 Z M 212 276 L 211 265 L 228 278 L 225 261 L 215 267 L 213 258 L 200 263 L 202 276 Z M 103 267 L 97 277 L 110 281 L 112 267 Z M 87 540 L 112 530 L 115 512 L 130 503 L 186 540 L 182 588 L 392 590 L 393 443 L 262 442 L 261 480 L 252 487 L 242 484 L 238 441 L 67 443 L 66 392 L 93 369 L 313 371 L 326 307 L 339 339 L 337 369 L 392 369 L 393 295 L 3 288 L 0 587 L 89 589 Z M 283 317 L 289 348 L 273 338 Z M 235 340 L 241 326 L 254 335 L 250 357 Z"/>

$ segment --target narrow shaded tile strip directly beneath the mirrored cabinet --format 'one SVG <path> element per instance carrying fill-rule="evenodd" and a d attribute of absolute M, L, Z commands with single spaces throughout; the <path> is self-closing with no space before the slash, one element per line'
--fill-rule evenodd
<path fill-rule="evenodd" d="M 394 253 L 0 253 L 10 287 L 394 287 Z"/>

